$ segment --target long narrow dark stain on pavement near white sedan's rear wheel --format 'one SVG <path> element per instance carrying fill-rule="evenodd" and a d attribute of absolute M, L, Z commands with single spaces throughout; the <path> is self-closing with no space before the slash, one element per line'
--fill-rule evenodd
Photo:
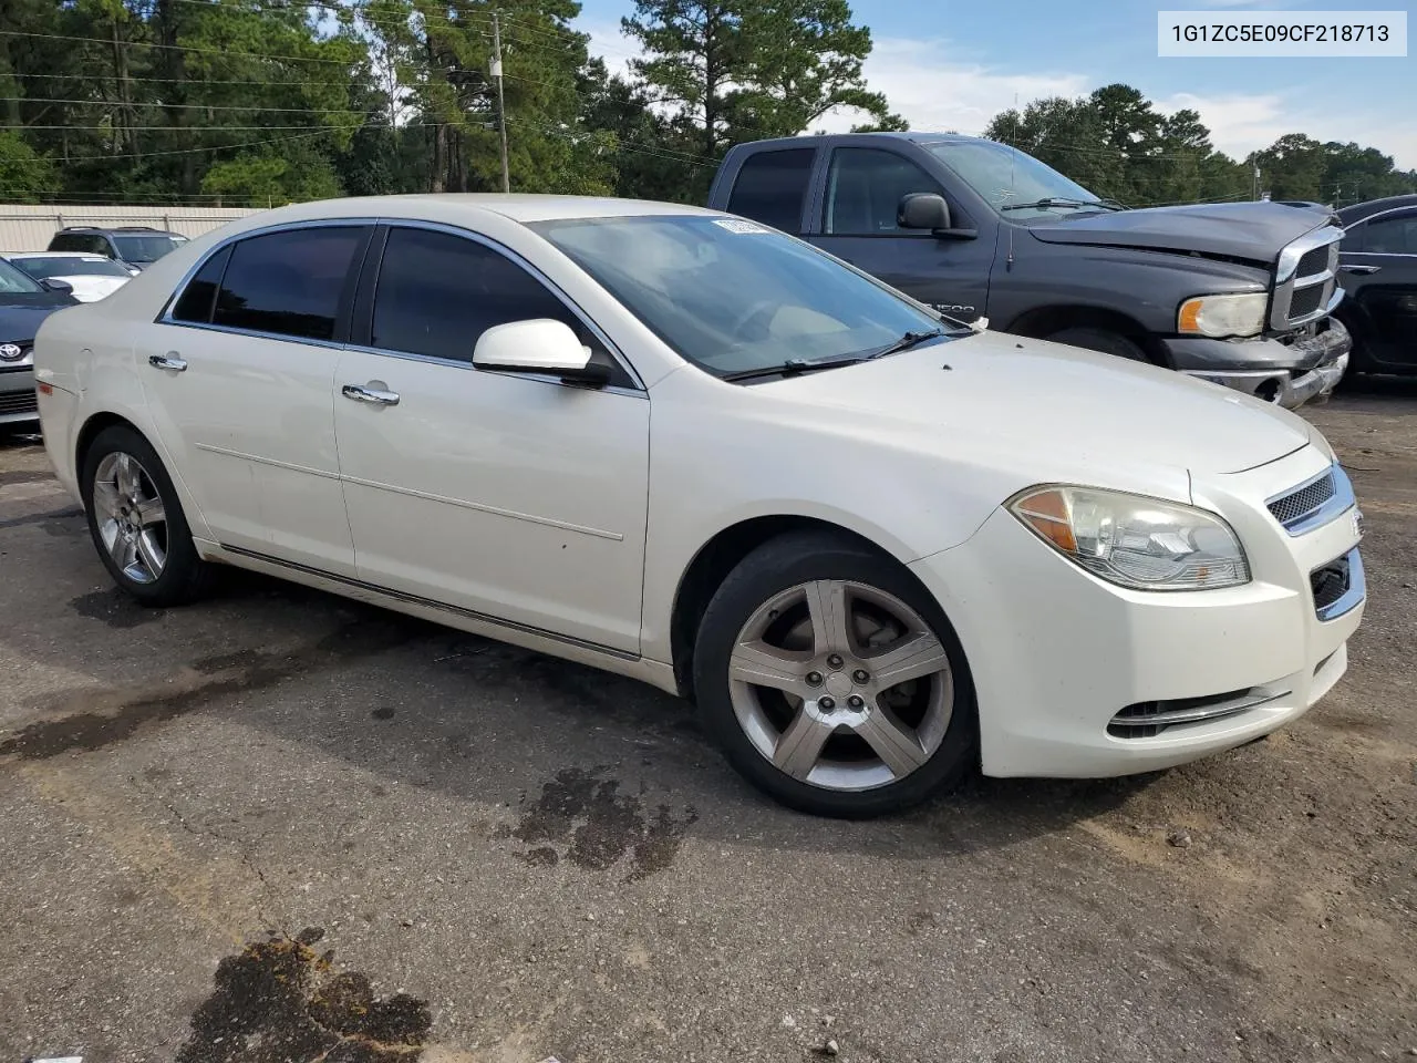
<path fill-rule="evenodd" d="M 393 649 L 422 629 L 417 624 L 373 618 L 334 629 L 290 652 L 242 651 L 205 658 L 177 670 L 160 685 L 98 690 L 50 706 L 47 716 L 0 741 L 0 757 L 47 760 L 65 753 L 92 753 L 123 741 L 145 724 L 163 723 L 238 690 L 259 690 L 293 675 L 307 675 L 344 660 L 363 660 Z"/>

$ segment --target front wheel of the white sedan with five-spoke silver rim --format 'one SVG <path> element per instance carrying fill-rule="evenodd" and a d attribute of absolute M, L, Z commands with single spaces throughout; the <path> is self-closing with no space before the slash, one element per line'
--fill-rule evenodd
<path fill-rule="evenodd" d="M 900 564 L 843 536 L 785 534 L 730 573 L 699 628 L 694 693 L 730 764 L 813 815 L 898 812 L 978 763 L 948 619 Z"/>

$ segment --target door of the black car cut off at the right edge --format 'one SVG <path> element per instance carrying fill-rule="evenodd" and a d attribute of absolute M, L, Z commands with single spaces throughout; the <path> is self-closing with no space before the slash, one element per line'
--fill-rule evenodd
<path fill-rule="evenodd" d="M 1339 268 L 1365 369 L 1417 369 L 1417 207 L 1349 230 Z"/>

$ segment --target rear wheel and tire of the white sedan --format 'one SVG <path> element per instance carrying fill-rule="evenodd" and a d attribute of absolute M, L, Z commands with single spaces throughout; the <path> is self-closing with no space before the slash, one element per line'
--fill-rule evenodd
<path fill-rule="evenodd" d="M 99 560 L 145 605 L 181 605 L 205 591 L 177 490 L 157 452 L 128 425 L 105 428 L 84 455 L 84 512 Z"/>

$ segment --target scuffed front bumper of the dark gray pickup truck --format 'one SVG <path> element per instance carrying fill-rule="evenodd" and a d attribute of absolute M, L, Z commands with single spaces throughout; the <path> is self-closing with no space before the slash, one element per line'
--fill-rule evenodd
<path fill-rule="evenodd" d="M 1338 317 L 1315 322 L 1287 340 L 1173 337 L 1162 344 L 1176 370 L 1285 410 L 1328 398 L 1353 350 L 1353 339 Z"/>

